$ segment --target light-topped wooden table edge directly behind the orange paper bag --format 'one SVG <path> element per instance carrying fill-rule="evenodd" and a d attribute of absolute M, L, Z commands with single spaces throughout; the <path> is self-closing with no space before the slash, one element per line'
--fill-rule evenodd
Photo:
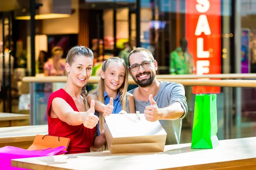
<path fill-rule="evenodd" d="M 0 147 L 15 146 L 27 149 L 37 134 L 48 134 L 48 125 L 0 127 Z"/>

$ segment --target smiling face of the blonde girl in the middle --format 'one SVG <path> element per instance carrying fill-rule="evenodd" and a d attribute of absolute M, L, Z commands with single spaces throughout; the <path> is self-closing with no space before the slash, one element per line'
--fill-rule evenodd
<path fill-rule="evenodd" d="M 105 91 L 117 91 L 125 80 L 125 67 L 120 62 L 110 62 L 101 77 L 105 82 Z"/>

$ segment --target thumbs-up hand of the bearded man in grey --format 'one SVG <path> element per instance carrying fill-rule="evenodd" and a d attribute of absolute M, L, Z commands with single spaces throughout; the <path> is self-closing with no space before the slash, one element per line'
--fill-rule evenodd
<path fill-rule="evenodd" d="M 146 106 L 144 113 L 146 120 L 150 122 L 155 122 L 160 119 L 160 111 L 157 106 L 157 102 L 154 101 L 152 94 L 149 95 L 149 102 L 151 105 Z"/>

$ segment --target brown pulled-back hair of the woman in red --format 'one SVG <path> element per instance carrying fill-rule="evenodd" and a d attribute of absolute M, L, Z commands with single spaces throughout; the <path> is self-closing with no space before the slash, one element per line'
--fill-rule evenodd
<path fill-rule="evenodd" d="M 72 47 L 66 57 L 66 62 L 71 66 L 72 63 L 74 62 L 76 56 L 81 55 L 84 57 L 89 57 L 90 59 L 93 60 L 93 51 L 90 50 L 90 48 L 87 48 L 85 46 L 74 46 Z M 85 111 L 89 110 L 90 106 L 86 100 L 87 96 L 87 90 L 86 90 L 86 85 L 82 88 L 81 95 L 84 98 L 84 106 L 85 106 Z"/>

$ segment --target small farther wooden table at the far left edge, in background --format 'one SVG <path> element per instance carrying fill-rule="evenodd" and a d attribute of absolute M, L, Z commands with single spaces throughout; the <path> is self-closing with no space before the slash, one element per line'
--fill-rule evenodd
<path fill-rule="evenodd" d="M 29 125 L 29 115 L 17 113 L 0 113 L 0 127 Z"/>

